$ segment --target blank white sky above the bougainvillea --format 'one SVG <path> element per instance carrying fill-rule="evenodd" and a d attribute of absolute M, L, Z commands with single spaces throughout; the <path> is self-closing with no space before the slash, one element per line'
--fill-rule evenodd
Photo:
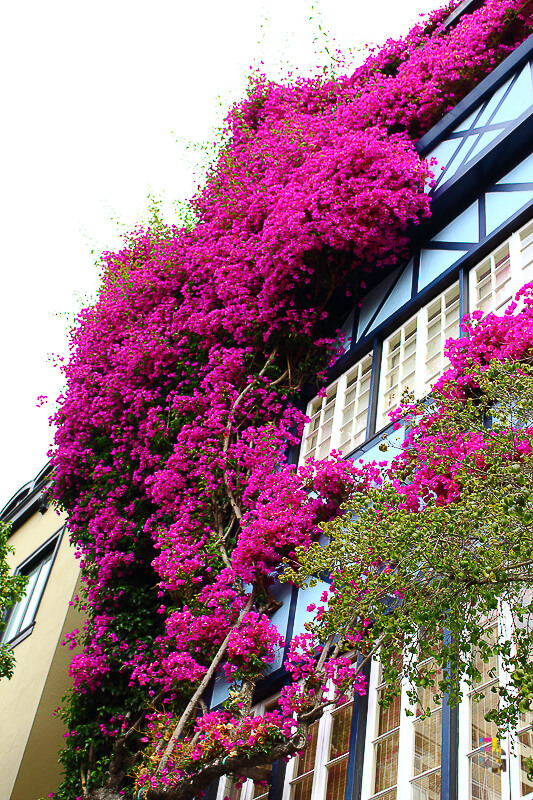
<path fill-rule="evenodd" d="M 26 0 L 0 32 L 0 507 L 47 461 L 72 315 L 97 254 L 196 186 L 188 143 L 213 139 L 250 65 L 310 70 L 324 45 L 405 33 L 440 0 Z M 311 18 L 311 19 L 310 19 Z M 319 27 L 321 26 L 321 28 Z M 322 31 L 328 31 L 326 38 Z M 361 56 L 355 53 L 356 58 Z M 37 408 L 37 397 L 50 403 Z"/>

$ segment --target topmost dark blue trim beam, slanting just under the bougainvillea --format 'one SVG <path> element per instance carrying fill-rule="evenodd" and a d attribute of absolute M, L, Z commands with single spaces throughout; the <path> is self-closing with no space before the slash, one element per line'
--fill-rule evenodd
<path fill-rule="evenodd" d="M 523 67 L 524 64 L 529 61 L 532 54 L 533 34 L 528 36 L 520 47 L 517 47 L 513 53 L 508 55 L 496 69 L 492 70 L 490 75 L 487 75 L 475 89 L 472 89 L 466 97 L 457 103 L 451 111 L 418 140 L 416 149 L 422 158 L 436 147 L 439 142 L 447 138 L 453 129 L 472 113 L 478 103 L 482 103 L 485 99 L 488 99 L 502 83 L 505 83 L 515 70 Z"/>

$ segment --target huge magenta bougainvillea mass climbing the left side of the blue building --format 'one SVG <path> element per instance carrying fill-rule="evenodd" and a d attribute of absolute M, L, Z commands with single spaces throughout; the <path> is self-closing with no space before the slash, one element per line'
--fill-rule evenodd
<path fill-rule="evenodd" d="M 301 750 L 326 685 L 328 702 L 364 691 L 340 645 L 308 633 L 286 643 L 294 683 L 278 709 L 251 712 L 281 646 L 284 563 L 379 480 L 339 454 L 289 463 L 298 390 L 338 351 L 339 292 L 355 302 L 429 214 L 414 143 L 532 29 L 519 0 L 447 28 L 452 8 L 350 75 L 256 77 L 194 224 L 138 230 L 104 256 L 55 418 L 53 492 L 88 615 L 58 798 L 193 797 Z M 209 711 L 217 673 L 234 690 Z"/>

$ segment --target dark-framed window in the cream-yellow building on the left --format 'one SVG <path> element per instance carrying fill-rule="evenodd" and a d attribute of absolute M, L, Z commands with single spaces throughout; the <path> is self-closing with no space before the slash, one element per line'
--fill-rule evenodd
<path fill-rule="evenodd" d="M 24 597 L 8 613 L 3 642 L 16 643 L 19 636 L 31 632 L 60 538 L 60 534 L 55 534 L 17 567 L 16 573 L 26 575 L 28 583 Z"/>

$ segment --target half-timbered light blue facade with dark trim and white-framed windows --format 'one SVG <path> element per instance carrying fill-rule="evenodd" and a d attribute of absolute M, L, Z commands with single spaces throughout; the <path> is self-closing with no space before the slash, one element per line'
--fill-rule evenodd
<path fill-rule="evenodd" d="M 378 447 L 390 432 L 389 413 L 404 390 L 418 398 L 430 392 L 448 366 L 444 345 L 459 337 L 461 317 L 476 309 L 503 314 L 533 280 L 532 71 L 530 37 L 418 142 L 420 155 L 438 162 L 432 216 L 413 231 L 405 263 L 374 273 L 360 307 L 339 319 L 345 352 L 330 369 L 324 396 L 310 389 L 303 398 L 310 422 L 295 458 L 336 449 L 355 461 L 382 462 Z M 392 436 L 401 440 L 401 429 Z M 283 604 L 274 620 L 287 640 L 303 631 L 306 608 L 324 587 L 279 587 Z M 282 661 L 279 653 L 258 710 L 275 704 L 286 680 Z M 404 714 L 405 690 L 388 709 L 379 705 L 376 661 L 368 695 L 315 723 L 302 757 L 274 765 L 269 790 L 221 781 L 213 800 L 531 800 L 525 759 L 533 755 L 533 716 L 497 741 L 484 719 L 498 681 L 489 671 L 497 664 L 479 667 L 481 702 L 465 691 L 459 707 L 433 703 L 421 719 L 416 707 Z M 215 683 L 213 707 L 228 689 L 222 679 Z"/>

